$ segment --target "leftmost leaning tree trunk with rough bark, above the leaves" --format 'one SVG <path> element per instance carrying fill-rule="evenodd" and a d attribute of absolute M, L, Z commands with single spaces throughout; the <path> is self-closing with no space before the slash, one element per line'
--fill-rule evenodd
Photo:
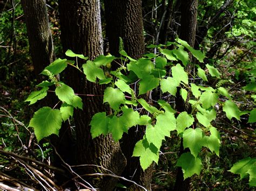
<path fill-rule="evenodd" d="M 29 50 L 37 76 L 54 59 L 49 18 L 44 0 L 22 0 Z"/>

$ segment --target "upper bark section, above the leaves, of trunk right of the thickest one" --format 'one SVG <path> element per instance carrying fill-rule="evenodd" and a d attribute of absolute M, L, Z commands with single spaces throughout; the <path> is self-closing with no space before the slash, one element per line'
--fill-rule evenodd
<path fill-rule="evenodd" d="M 142 1 L 104 0 L 106 35 L 111 54 L 118 56 L 119 37 L 129 56 L 138 59 L 144 53 Z"/>

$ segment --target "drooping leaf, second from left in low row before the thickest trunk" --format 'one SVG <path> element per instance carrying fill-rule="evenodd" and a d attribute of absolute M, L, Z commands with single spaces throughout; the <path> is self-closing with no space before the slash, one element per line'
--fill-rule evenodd
<path fill-rule="evenodd" d="M 113 116 L 109 121 L 109 132 L 116 142 L 122 138 L 124 132 L 127 133 L 128 129 L 121 117 Z"/>

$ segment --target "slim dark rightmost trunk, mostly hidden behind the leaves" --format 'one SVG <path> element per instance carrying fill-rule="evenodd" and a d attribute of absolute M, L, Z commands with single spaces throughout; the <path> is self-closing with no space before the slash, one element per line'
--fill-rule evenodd
<path fill-rule="evenodd" d="M 179 38 L 187 41 L 187 43 L 191 47 L 193 47 L 194 41 L 196 39 L 198 2 L 197 0 L 181 1 L 180 8 L 181 8 L 181 18 L 180 18 Z M 192 58 L 192 55 L 190 54 L 190 60 L 191 58 Z M 186 70 L 188 70 L 188 73 L 190 73 L 191 66 L 188 65 Z M 181 97 L 179 90 L 176 98 L 176 110 L 179 112 L 182 112 L 182 111 L 187 111 L 188 113 L 191 112 L 191 107 L 187 102 L 183 101 L 183 98 Z M 183 139 L 181 138 L 179 155 L 187 151 L 189 150 L 188 149 L 184 150 Z M 190 178 L 187 178 L 184 180 L 183 171 L 181 167 L 178 167 L 178 173 L 176 176 L 176 182 L 173 190 L 189 190 L 189 188 L 190 188 Z"/>

